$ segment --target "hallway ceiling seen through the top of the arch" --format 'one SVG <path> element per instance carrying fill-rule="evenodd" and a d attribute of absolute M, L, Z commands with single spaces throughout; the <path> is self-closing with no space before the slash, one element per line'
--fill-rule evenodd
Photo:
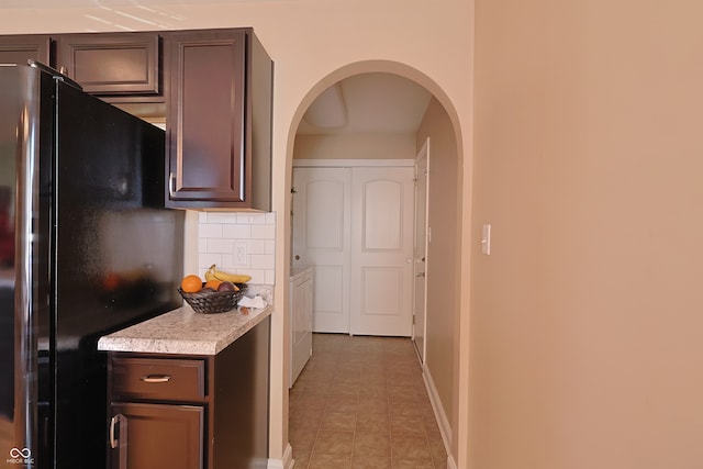
<path fill-rule="evenodd" d="M 355 75 L 313 101 L 298 134 L 414 133 L 431 97 L 425 88 L 398 75 Z"/>

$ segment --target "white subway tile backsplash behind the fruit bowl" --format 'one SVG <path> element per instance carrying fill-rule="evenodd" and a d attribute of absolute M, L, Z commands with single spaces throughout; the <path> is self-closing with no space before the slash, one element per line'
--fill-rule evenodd
<path fill-rule="evenodd" d="M 252 276 L 252 283 L 274 284 L 276 213 L 200 212 L 198 269 L 213 264 L 234 273 Z"/>

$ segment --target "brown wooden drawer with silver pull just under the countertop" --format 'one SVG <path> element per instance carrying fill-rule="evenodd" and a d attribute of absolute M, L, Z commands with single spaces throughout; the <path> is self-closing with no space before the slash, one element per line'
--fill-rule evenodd
<path fill-rule="evenodd" d="M 204 397 L 204 359 L 112 357 L 112 399 L 192 401 Z"/>

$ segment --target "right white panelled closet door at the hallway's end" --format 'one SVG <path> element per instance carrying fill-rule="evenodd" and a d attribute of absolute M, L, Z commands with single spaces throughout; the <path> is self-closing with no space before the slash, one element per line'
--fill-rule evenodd
<path fill-rule="evenodd" d="M 414 168 L 352 169 L 350 334 L 412 335 Z"/>

